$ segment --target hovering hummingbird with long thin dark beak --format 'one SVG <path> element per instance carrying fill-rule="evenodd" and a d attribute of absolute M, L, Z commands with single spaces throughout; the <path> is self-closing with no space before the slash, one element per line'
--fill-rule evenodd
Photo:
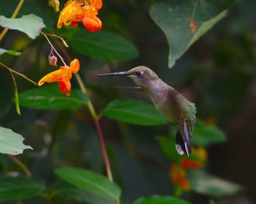
<path fill-rule="evenodd" d="M 119 73 L 104 73 L 98 76 L 128 76 L 151 98 L 155 108 L 173 125 L 176 125 L 176 150 L 187 156 L 192 152 L 191 138 L 195 126 L 195 104 L 183 97 L 175 88 L 163 82 L 146 66 Z"/>

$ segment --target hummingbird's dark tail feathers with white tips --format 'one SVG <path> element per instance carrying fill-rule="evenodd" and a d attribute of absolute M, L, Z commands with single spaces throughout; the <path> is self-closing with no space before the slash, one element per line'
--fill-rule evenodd
<path fill-rule="evenodd" d="M 183 133 L 180 131 L 176 132 L 176 150 L 178 153 L 183 155 L 183 153 L 186 153 L 187 156 L 191 153 L 191 144 L 190 144 L 190 138 L 191 135 L 188 131 L 188 125 L 187 122 L 183 122 Z"/>

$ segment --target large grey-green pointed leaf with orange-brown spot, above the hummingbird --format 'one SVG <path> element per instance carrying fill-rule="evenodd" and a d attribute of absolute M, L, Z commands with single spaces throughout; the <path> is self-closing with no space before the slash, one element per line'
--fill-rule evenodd
<path fill-rule="evenodd" d="M 211 27 L 226 16 L 234 0 L 160 0 L 150 9 L 151 18 L 163 30 L 170 46 L 172 67 L 186 50 Z M 189 27 L 193 24 L 192 27 Z"/>

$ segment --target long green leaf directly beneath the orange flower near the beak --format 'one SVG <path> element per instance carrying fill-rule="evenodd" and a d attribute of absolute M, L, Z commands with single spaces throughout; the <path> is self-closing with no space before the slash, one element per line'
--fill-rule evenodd
<path fill-rule="evenodd" d="M 20 94 L 20 105 L 40 109 L 78 109 L 86 106 L 88 97 L 79 90 L 71 90 L 70 96 L 62 94 L 58 85 L 45 85 Z"/>

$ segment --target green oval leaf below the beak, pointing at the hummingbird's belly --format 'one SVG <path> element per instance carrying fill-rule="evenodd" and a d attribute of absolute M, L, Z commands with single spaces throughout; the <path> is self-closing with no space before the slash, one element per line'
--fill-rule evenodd
<path fill-rule="evenodd" d="M 103 116 L 136 125 L 164 125 L 167 119 L 150 104 L 139 100 L 114 100 L 103 110 Z"/>

